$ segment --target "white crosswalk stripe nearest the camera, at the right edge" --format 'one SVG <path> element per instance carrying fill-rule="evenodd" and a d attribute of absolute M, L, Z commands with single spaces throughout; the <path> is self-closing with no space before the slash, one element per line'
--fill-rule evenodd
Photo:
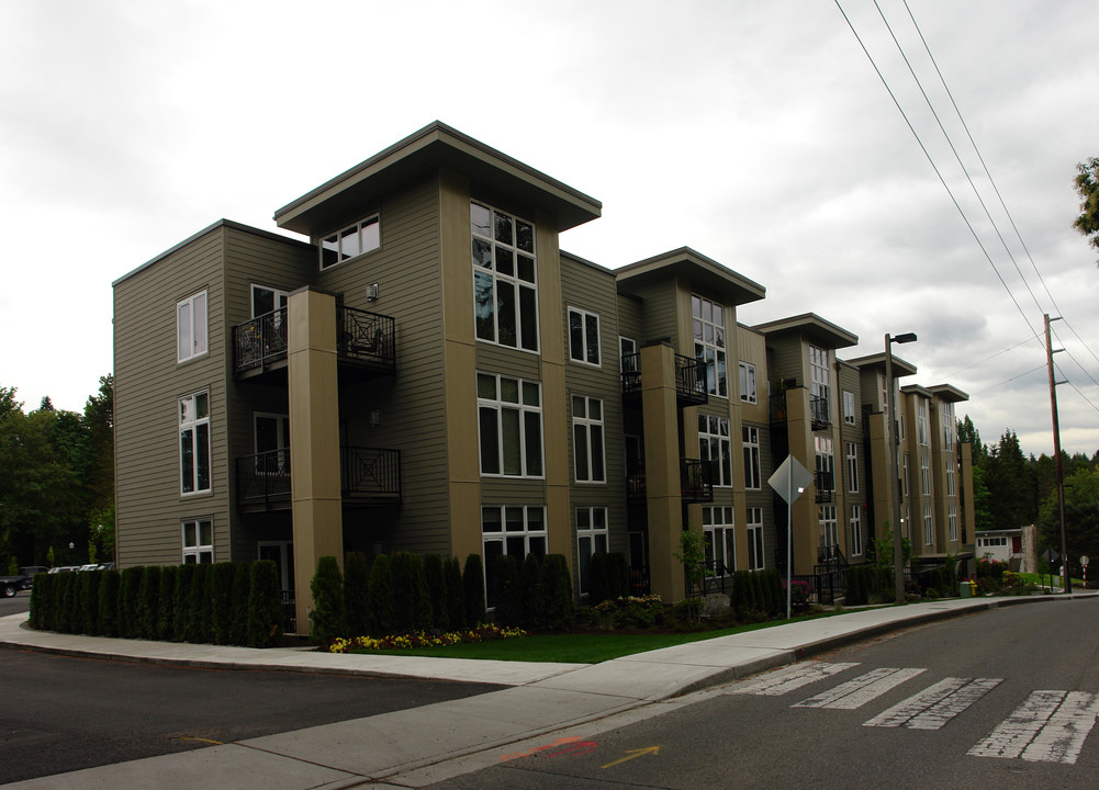
<path fill-rule="evenodd" d="M 1085 691 L 1034 691 L 967 754 L 1076 763 L 1096 715 L 1099 696 Z"/>

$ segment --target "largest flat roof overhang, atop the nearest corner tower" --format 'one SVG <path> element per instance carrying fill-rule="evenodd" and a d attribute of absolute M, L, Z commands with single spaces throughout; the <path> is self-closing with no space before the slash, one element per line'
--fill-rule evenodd
<path fill-rule="evenodd" d="M 557 232 L 602 213 L 595 198 L 435 121 L 284 205 L 275 212 L 275 222 L 306 235 L 323 233 L 364 204 L 439 168 L 463 173 L 475 183 L 550 211 L 557 218 Z"/>

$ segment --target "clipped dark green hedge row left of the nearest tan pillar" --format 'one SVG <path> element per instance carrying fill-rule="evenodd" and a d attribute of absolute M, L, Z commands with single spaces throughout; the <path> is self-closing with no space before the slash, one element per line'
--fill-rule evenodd
<path fill-rule="evenodd" d="M 38 574 L 29 625 L 66 634 L 267 647 L 282 633 L 278 569 L 259 561 Z"/>

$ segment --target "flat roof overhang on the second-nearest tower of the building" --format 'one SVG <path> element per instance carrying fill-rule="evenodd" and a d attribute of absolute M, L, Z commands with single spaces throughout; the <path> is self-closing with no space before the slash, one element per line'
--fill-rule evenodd
<path fill-rule="evenodd" d="M 747 277 L 722 266 L 690 247 L 639 260 L 614 269 L 619 293 L 637 296 L 637 289 L 666 281 L 686 279 L 707 293 L 721 294 L 728 304 L 746 304 L 764 299 L 767 289 Z"/>

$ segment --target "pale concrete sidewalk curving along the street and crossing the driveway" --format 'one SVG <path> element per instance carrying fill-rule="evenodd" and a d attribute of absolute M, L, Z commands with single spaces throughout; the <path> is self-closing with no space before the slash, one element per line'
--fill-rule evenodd
<path fill-rule="evenodd" d="M 189 667 L 489 681 L 511 688 L 366 719 L 297 730 L 163 757 L 102 766 L 8 785 L 203 790 L 217 783 L 248 790 L 424 787 L 521 752 L 548 733 L 592 727 L 609 716 L 668 704 L 680 694 L 791 664 L 875 634 L 998 607 L 1067 602 L 1096 593 L 1056 597 L 952 599 L 854 611 L 819 620 L 722 636 L 602 664 L 481 661 L 451 658 L 333 655 L 302 649 L 112 639 L 40 633 L 25 615 L 0 619 L 0 645 L 121 660 Z M 213 778 L 217 779 L 213 779 Z"/>

